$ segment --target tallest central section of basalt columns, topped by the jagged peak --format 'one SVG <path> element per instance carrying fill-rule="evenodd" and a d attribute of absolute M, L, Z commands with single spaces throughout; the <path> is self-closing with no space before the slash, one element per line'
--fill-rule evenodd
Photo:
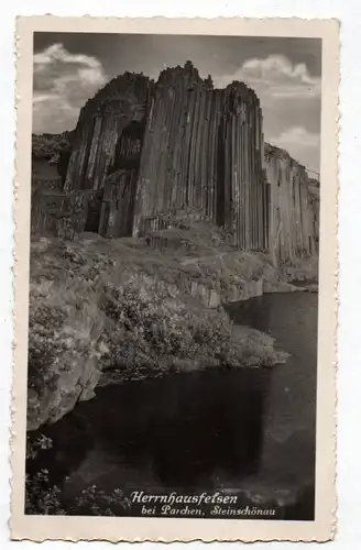
<path fill-rule="evenodd" d="M 190 63 L 160 75 L 144 135 L 133 234 L 144 218 L 176 209 L 211 216 L 215 206 L 217 100 Z"/>

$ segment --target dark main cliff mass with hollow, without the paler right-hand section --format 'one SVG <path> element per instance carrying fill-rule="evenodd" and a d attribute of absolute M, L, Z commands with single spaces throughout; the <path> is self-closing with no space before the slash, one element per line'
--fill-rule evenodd
<path fill-rule="evenodd" d="M 105 188 L 101 234 L 141 235 L 187 209 L 241 249 L 266 249 L 262 111 L 244 84 L 214 89 L 189 62 L 156 84 L 125 74 L 88 101 L 75 133 L 65 191 Z"/>

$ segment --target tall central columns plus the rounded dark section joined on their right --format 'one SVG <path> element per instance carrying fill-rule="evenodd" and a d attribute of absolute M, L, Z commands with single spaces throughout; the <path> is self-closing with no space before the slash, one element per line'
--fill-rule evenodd
<path fill-rule="evenodd" d="M 262 112 L 242 82 L 214 89 L 190 63 L 163 72 L 147 118 L 133 234 L 174 209 L 197 209 L 243 250 L 266 248 Z"/>

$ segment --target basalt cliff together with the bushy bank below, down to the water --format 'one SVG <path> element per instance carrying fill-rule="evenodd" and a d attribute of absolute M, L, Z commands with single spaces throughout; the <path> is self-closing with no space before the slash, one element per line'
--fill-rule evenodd
<path fill-rule="evenodd" d="M 113 369 L 280 362 L 217 308 L 317 278 L 319 187 L 264 144 L 250 88 L 215 89 L 190 63 L 125 73 L 36 143 L 33 174 L 50 157 L 58 177 L 32 182 L 29 430 Z"/>

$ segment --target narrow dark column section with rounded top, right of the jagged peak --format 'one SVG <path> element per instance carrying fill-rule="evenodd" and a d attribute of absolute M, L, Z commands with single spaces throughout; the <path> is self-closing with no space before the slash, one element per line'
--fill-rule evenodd
<path fill-rule="evenodd" d="M 233 82 L 223 91 L 220 136 L 218 146 L 225 153 L 218 186 L 223 186 L 223 211 L 218 219 L 242 250 L 264 250 L 267 204 L 262 166 L 262 111 L 253 90 L 242 82 Z"/>

